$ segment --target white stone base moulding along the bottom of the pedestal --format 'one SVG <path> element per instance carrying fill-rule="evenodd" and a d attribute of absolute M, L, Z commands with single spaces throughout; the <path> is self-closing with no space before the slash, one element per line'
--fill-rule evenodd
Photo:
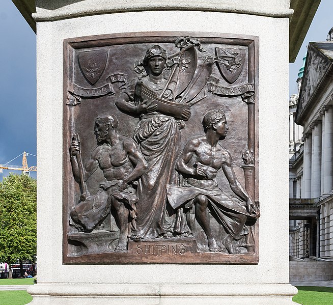
<path fill-rule="evenodd" d="M 290 284 L 38 284 L 31 305 L 282 305 L 297 304 Z M 70 297 L 69 297 L 70 296 Z"/>

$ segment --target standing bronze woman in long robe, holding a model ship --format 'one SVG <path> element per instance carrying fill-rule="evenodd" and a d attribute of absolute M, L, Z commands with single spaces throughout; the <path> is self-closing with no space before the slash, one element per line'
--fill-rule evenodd
<path fill-rule="evenodd" d="M 140 95 L 144 87 L 150 96 L 165 100 L 167 79 L 163 78 L 166 51 L 154 45 L 146 52 L 144 65 L 148 72 L 142 79 L 134 79 L 116 101 L 116 106 L 129 114 L 140 116 L 140 122 L 133 138 L 140 146 L 148 170 L 138 181 L 136 196 L 136 228 L 133 240 L 151 239 L 168 234 L 166 216 L 166 185 L 177 184 L 175 163 L 180 153 L 181 120 L 188 120 L 190 111 L 184 108 L 181 120 L 176 120 L 172 112 L 158 110 L 156 99 Z M 140 89 L 139 89 L 140 88 Z M 170 94 L 171 95 L 171 94 Z M 162 97 L 161 97 L 162 96 Z"/>

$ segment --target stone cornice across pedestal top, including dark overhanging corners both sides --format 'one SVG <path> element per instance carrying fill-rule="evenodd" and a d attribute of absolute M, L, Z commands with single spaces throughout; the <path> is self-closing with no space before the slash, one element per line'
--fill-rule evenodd
<path fill-rule="evenodd" d="M 291 0 L 290 6 L 289 2 L 285 1 L 285 4 L 283 6 L 281 5 L 279 9 L 275 7 L 272 9 L 268 4 L 262 6 L 258 5 L 258 7 L 255 8 L 254 6 L 246 5 L 245 3 L 239 1 L 225 2 L 195 0 L 179 2 L 176 0 L 169 0 L 144 2 L 132 0 L 131 5 L 129 6 L 129 2 L 127 0 L 119 0 L 100 2 L 85 1 L 88 4 L 84 7 L 81 5 L 81 10 L 77 10 L 75 5 L 79 6 L 80 3 L 82 3 L 81 1 L 77 1 L 78 4 L 75 4 L 73 1 L 68 2 L 67 8 L 65 2 L 62 6 L 59 5 L 61 2 L 57 2 L 58 7 L 54 4 L 54 1 L 52 2 L 46 0 L 39 0 L 37 5 L 35 4 L 35 0 L 12 0 L 12 2 L 35 33 L 36 21 L 41 21 L 43 18 L 56 19 L 58 17 L 58 19 L 60 19 L 62 15 L 67 15 L 67 17 L 63 16 L 63 18 L 77 17 L 73 15 L 74 12 L 79 14 L 79 16 L 82 16 L 126 11 L 187 9 L 193 11 L 221 11 L 271 17 L 289 17 L 289 61 L 291 63 L 293 63 L 296 59 L 300 46 L 309 30 L 309 26 L 320 4 L 320 0 Z M 264 2 L 264 4 L 266 3 Z M 38 14 L 35 13 L 36 6 L 38 7 Z"/>

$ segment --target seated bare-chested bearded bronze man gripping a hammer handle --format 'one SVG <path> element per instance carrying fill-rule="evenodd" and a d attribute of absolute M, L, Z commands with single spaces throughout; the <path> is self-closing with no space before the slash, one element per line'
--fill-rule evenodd
<path fill-rule="evenodd" d="M 99 116 L 95 122 L 98 146 L 93 150 L 84 167 L 87 180 L 99 167 L 103 171 L 105 183 L 95 196 L 88 197 L 75 206 L 71 218 L 80 231 L 91 232 L 100 225 L 110 209 L 114 208 L 120 227 L 120 236 L 115 252 L 124 252 L 130 235 L 130 223 L 136 217 L 136 202 L 133 182 L 148 169 L 148 164 L 137 144 L 129 137 L 118 133 L 118 120 L 113 115 Z M 79 168 L 76 154 L 80 152 L 78 141 L 70 147 L 73 175 L 79 182 Z"/>

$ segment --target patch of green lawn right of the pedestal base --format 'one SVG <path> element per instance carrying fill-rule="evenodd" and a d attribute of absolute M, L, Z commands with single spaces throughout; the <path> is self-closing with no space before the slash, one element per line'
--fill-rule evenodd
<path fill-rule="evenodd" d="M 332 305 L 333 288 L 296 286 L 298 293 L 293 297 L 293 301 L 302 305 Z"/>

